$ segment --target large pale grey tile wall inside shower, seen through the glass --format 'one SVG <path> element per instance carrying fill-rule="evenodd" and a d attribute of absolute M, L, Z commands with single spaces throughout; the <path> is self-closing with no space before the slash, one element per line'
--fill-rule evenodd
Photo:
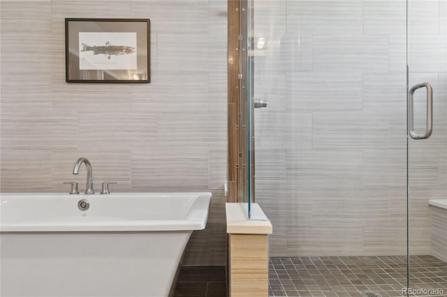
<path fill-rule="evenodd" d="M 427 200 L 447 192 L 447 8 L 410 3 L 410 83 L 432 82 L 435 123 L 411 146 L 411 252 L 430 254 Z M 406 1 L 255 1 L 254 31 L 268 44 L 254 97 L 269 103 L 255 184 L 270 255 L 406 254 Z"/>

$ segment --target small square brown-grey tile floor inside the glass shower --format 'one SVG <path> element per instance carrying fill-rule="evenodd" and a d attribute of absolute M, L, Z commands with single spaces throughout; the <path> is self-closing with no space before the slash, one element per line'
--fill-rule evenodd
<path fill-rule="evenodd" d="M 443 289 L 447 296 L 447 263 L 432 256 L 412 256 L 413 289 Z M 272 257 L 269 296 L 406 296 L 406 257 Z M 411 295 L 416 296 L 416 295 Z"/>

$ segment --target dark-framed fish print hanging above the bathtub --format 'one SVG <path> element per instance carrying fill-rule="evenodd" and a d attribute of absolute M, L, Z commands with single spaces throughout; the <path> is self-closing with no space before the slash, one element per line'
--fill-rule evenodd
<path fill-rule="evenodd" d="M 149 19 L 65 19 L 66 82 L 150 82 Z"/>

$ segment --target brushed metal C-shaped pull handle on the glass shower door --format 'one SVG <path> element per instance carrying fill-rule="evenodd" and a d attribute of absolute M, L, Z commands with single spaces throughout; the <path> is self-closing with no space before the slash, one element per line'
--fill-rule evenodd
<path fill-rule="evenodd" d="M 414 92 L 417 89 L 426 88 L 427 89 L 427 129 L 425 130 L 425 134 L 416 134 L 414 132 L 414 118 L 413 118 L 413 96 Z M 422 84 L 416 84 L 413 86 L 408 94 L 408 134 L 413 139 L 427 139 L 432 135 L 433 131 L 433 88 L 432 85 L 428 82 L 423 82 Z"/>

